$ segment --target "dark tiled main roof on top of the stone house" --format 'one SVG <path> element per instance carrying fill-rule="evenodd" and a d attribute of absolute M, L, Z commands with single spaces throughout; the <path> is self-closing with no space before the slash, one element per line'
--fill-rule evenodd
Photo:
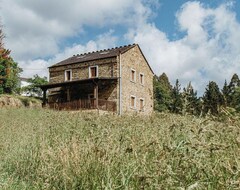
<path fill-rule="evenodd" d="M 52 65 L 49 68 L 63 66 L 63 65 L 69 65 L 69 64 L 73 64 L 73 63 L 93 61 L 93 60 L 97 60 L 97 59 L 104 59 L 104 58 L 109 58 L 109 57 L 116 57 L 117 55 L 119 55 L 119 53 L 124 53 L 134 46 L 136 46 L 136 44 L 73 55 L 72 57 L 65 59 L 55 65 Z"/>

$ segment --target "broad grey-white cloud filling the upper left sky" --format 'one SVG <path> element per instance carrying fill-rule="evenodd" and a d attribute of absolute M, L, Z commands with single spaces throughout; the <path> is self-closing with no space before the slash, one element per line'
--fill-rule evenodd
<path fill-rule="evenodd" d="M 1 6 L 6 45 L 17 60 L 52 56 L 62 39 L 80 35 L 85 26 L 129 27 L 151 15 L 140 0 L 2 0 Z"/>

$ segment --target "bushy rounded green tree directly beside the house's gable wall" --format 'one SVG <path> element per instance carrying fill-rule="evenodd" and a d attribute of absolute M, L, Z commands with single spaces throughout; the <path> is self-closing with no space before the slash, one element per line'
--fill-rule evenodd
<path fill-rule="evenodd" d="M 157 111 L 170 110 L 172 86 L 165 73 L 154 77 L 154 108 Z"/>

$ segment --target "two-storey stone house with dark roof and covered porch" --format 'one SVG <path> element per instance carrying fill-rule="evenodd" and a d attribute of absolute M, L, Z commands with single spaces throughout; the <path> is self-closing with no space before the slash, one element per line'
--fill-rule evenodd
<path fill-rule="evenodd" d="M 153 75 L 137 44 L 73 55 L 49 67 L 43 105 L 150 114 Z"/>

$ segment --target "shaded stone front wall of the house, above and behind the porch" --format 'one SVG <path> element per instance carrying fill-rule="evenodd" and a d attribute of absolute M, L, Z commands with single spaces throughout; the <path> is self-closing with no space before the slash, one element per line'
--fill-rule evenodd
<path fill-rule="evenodd" d="M 76 63 L 66 66 L 59 66 L 49 68 L 50 72 L 50 83 L 62 83 L 65 81 L 65 71 L 71 70 L 72 71 L 72 81 L 74 80 L 81 80 L 81 79 L 88 79 L 89 78 L 89 67 L 97 66 L 98 67 L 98 77 L 117 77 L 118 76 L 118 66 L 116 58 L 107 58 L 107 59 L 100 59 L 95 61 L 88 61 L 84 63 Z M 85 90 L 79 90 L 81 87 L 72 87 L 70 94 L 72 96 L 76 96 L 76 92 L 78 93 L 85 93 L 83 96 L 79 94 L 79 98 L 87 98 L 88 94 L 93 94 L 93 87 L 91 85 L 86 88 Z M 76 92 L 75 92 L 76 91 Z M 89 91 L 89 92 L 88 92 Z M 56 93 L 56 95 L 51 95 Z M 49 90 L 49 102 L 59 101 L 59 99 L 63 99 L 60 97 L 61 94 L 66 94 L 65 88 L 56 88 Z M 99 99 L 103 100 L 110 100 L 117 102 L 117 84 L 101 84 L 99 83 Z M 59 97 L 58 97 L 59 96 Z M 61 95 L 62 96 L 62 95 Z M 64 100 L 62 100 L 64 101 Z"/>

